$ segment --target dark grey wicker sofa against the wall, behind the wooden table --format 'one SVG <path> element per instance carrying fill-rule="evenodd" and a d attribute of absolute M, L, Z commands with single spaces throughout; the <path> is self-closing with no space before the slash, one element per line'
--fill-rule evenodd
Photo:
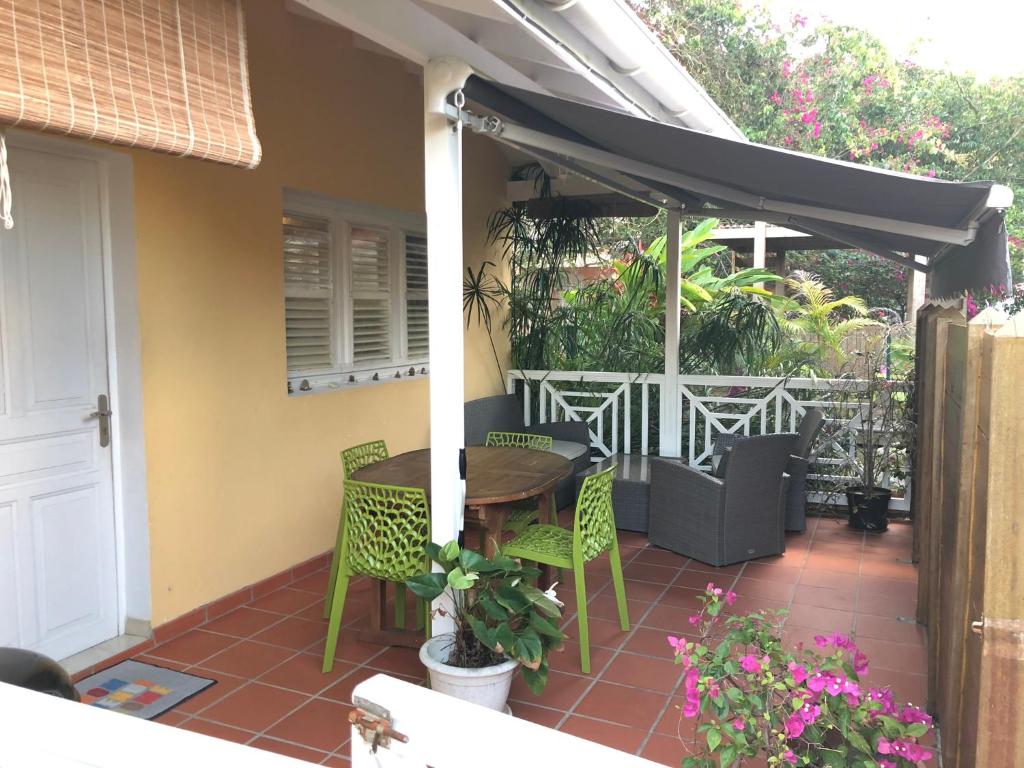
<path fill-rule="evenodd" d="M 590 467 L 590 433 L 584 422 L 560 421 L 525 426 L 522 404 L 514 394 L 470 400 L 465 407 L 466 444 L 482 445 L 487 432 L 527 432 L 549 435 L 551 450 L 572 462 L 572 476 L 558 483 L 555 498 L 563 509 L 575 501 L 575 474 Z"/>

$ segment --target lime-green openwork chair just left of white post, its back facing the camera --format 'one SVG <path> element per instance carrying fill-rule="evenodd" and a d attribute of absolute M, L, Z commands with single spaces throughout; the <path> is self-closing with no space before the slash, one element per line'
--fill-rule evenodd
<path fill-rule="evenodd" d="M 396 594 L 404 595 L 407 579 L 430 571 L 430 559 L 425 554 L 430 541 L 430 507 L 423 488 L 347 480 L 344 514 L 345 526 L 338 549 L 331 621 L 324 649 L 325 674 L 334 668 L 341 614 L 351 577 L 396 582 L 400 586 Z M 424 602 L 424 627 L 429 633 L 430 604 Z"/>

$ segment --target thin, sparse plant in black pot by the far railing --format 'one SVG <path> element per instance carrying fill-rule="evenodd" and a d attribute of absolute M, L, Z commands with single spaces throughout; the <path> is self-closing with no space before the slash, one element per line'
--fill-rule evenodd
<path fill-rule="evenodd" d="M 857 530 L 881 532 L 889 527 L 890 483 L 906 476 L 913 369 L 907 337 L 902 323 L 885 327 L 851 356 L 836 389 L 840 413 L 851 415 L 839 429 L 855 436 L 855 451 L 846 462 L 855 481 L 837 489 L 845 494 L 849 524 Z"/>

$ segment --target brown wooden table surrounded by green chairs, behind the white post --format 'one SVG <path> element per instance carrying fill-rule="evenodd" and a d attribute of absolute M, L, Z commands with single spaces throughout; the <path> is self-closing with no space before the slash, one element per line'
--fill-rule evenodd
<path fill-rule="evenodd" d="M 545 497 L 554 504 L 555 487 L 572 474 L 572 464 L 548 451 L 518 447 L 466 449 L 466 523 L 485 537 L 493 557 L 510 504 Z M 423 488 L 430 495 L 430 449 L 399 454 L 352 473 L 353 480 Z"/>

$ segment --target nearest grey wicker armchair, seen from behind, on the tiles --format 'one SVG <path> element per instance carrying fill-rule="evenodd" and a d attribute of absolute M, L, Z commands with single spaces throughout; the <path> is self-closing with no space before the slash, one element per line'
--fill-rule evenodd
<path fill-rule="evenodd" d="M 650 467 L 651 544 L 710 565 L 728 565 L 785 550 L 785 466 L 797 435 L 736 441 L 722 477 L 682 462 Z"/>

